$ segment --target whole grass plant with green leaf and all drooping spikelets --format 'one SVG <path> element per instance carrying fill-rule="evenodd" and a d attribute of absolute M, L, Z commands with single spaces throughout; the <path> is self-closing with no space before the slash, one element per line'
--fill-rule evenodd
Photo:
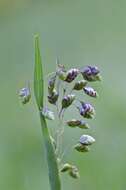
<path fill-rule="evenodd" d="M 82 77 L 81 80 L 78 80 L 79 75 Z M 45 144 L 51 190 L 61 190 L 60 173 L 67 173 L 74 179 L 80 177 L 79 169 L 75 164 L 64 163 L 63 161 L 63 133 L 66 127 L 71 128 L 71 130 L 82 131 L 90 128 L 86 120 L 94 118 L 95 108 L 90 103 L 84 101 L 84 95 L 97 98 L 97 91 L 89 83 L 100 80 L 100 70 L 96 66 L 67 70 L 64 65 L 59 64 L 59 60 L 57 59 L 56 70 L 53 72 L 53 76 L 49 75 L 48 80 L 48 105 L 44 105 L 43 65 L 39 49 L 39 39 L 38 36 L 35 37 L 34 94 Z M 72 87 L 70 83 L 72 83 Z M 74 94 L 75 92 L 76 95 Z M 82 98 L 79 100 L 79 105 L 75 105 L 76 100 L 78 102 L 77 95 L 80 93 L 82 94 Z M 19 96 L 23 104 L 28 103 L 31 100 L 30 88 L 22 88 L 19 91 Z M 70 118 L 65 121 L 64 114 L 72 105 L 74 105 L 75 113 L 77 113 L 75 114 L 76 118 Z M 49 106 L 51 106 L 51 109 Z M 55 109 L 52 110 L 53 107 L 57 108 L 56 113 Z M 58 118 L 59 122 L 58 130 L 54 131 L 56 136 L 51 134 L 47 125 L 47 120 L 52 120 L 53 124 L 55 118 Z M 83 132 L 72 148 L 75 149 L 75 152 L 83 154 L 90 150 L 93 143 L 95 143 L 95 138 Z"/>

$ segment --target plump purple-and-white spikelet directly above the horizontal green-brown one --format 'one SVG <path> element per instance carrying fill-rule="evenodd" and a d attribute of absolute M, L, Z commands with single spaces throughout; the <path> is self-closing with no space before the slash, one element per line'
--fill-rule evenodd
<path fill-rule="evenodd" d="M 81 105 L 82 106 L 79 108 L 80 115 L 82 115 L 83 117 L 87 119 L 94 118 L 95 110 L 93 106 L 89 103 L 84 103 L 84 102 L 81 102 Z"/>

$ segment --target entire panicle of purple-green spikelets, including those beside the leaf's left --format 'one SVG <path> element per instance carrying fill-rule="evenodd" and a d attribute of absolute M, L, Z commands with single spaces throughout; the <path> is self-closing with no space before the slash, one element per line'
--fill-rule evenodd
<path fill-rule="evenodd" d="M 87 66 L 83 69 L 71 68 L 70 70 L 66 70 L 64 65 L 57 65 L 56 71 L 51 75 L 48 81 L 48 102 L 57 107 L 57 116 L 59 120 L 62 120 L 62 123 L 65 126 L 70 128 L 79 128 L 79 129 L 89 129 L 88 123 L 85 121 L 86 119 L 92 119 L 95 116 L 94 107 L 82 100 L 78 100 L 77 93 L 81 92 L 82 95 L 88 95 L 90 97 L 96 98 L 98 97 L 98 93 L 91 86 L 88 85 L 89 82 L 100 81 L 101 75 L 100 71 L 96 66 Z M 78 79 L 78 75 L 82 76 L 81 80 Z M 69 88 L 69 84 L 72 83 L 72 89 L 67 91 L 65 88 Z M 65 86 L 65 88 L 64 88 Z M 70 85 L 71 88 L 71 85 Z M 30 100 L 30 90 L 29 88 L 23 88 L 19 92 L 19 96 L 22 98 L 22 103 L 26 104 Z M 75 106 L 75 110 L 77 110 L 78 118 L 70 118 L 68 121 L 64 121 L 64 112 L 71 105 Z M 49 108 L 45 107 L 40 110 L 41 114 L 49 120 L 54 120 L 55 115 Z M 76 115 L 77 115 L 76 114 Z M 59 126 L 59 130 L 61 132 L 57 133 L 57 138 L 53 138 L 50 136 L 52 144 L 54 145 L 54 149 L 56 152 L 57 160 L 60 159 L 59 148 L 59 140 L 61 140 L 62 128 Z M 57 140 L 58 139 L 58 140 Z M 56 141 L 57 140 L 57 141 Z M 73 146 L 74 149 L 78 152 L 84 153 L 88 152 L 89 147 L 95 142 L 95 139 L 87 134 L 83 134 Z M 60 161 L 59 161 L 60 163 Z M 75 165 L 71 165 L 69 163 L 62 164 L 60 166 L 61 172 L 67 172 L 71 177 L 78 178 L 79 171 Z"/>

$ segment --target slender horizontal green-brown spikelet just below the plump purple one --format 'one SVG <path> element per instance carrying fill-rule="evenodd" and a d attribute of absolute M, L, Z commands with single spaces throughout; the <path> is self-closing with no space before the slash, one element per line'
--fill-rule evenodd
<path fill-rule="evenodd" d="M 79 127 L 81 129 L 89 129 L 89 125 L 82 120 L 72 119 L 70 121 L 67 121 L 67 125 L 73 128 Z"/>

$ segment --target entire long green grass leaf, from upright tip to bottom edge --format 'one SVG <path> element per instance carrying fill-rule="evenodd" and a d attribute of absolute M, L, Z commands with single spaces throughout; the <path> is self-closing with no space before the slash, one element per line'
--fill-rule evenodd
<path fill-rule="evenodd" d="M 39 111 L 43 108 L 43 70 L 39 49 L 39 38 L 35 36 L 35 70 L 34 70 L 34 93 Z M 43 132 L 43 140 L 46 148 L 48 163 L 49 182 L 51 190 L 60 190 L 60 178 L 55 150 L 50 138 L 45 116 L 40 112 L 40 121 Z"/>

